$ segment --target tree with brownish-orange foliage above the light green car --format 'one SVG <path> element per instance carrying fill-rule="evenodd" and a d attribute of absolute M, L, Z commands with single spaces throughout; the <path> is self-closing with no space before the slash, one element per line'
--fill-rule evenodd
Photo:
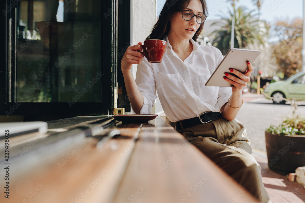
<path fill-rule="evenodd" d="M 285 78 L 302 70 L 303 20 L 277 20 L 274 35 L 279 42 L 273 46 L 278 70 Z"/>

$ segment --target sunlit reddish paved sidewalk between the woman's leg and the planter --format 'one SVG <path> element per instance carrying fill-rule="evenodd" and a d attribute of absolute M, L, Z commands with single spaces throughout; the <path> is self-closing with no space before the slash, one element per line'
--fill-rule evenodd
<path fill-rule="evenodd" d="M 262 168 L 263 182 L 272 203 L 305 203 L 305 189 L 296 181 L 274 173 L 268 168 L 267 154 L 253 150 L 253 157 Z"/>

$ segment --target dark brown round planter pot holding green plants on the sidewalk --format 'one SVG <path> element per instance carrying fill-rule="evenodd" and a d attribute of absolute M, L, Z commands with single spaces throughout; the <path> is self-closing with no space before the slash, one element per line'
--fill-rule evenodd
<path fill-rule="evenodd" d="M 268 167 L 281 174 L 305 166 L 305 136 L 272 135 L 265 132 Z"/>

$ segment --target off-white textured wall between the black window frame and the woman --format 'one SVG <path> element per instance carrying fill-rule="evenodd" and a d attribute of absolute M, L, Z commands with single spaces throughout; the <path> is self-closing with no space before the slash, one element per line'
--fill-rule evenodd
<path fill-rule="evenodd" d="M 131 12 L 131 45 L 135 45 L 144 42 L 156 23 L 157 0 L 132 0 Z M 133 65 L 132 73 L 134 77 L 136 77 L 136 72 L 137 65 Z M 152 113 L 155 113 L 154 108 Z"/>

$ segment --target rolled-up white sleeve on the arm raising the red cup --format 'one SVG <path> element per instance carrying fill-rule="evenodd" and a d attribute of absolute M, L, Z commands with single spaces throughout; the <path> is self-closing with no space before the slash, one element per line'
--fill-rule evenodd
<path fill-rule="evenodd" d="M 140 110 L 140 114 L 151 114 L 152 107 L 157 98 L 156 82 L 151 64 L 149 64 L 146 58 L 138 65 L 135 82 L 144 97 L 144 104 Z M 133 113 L 135 114 L 134 111 Z"/>

